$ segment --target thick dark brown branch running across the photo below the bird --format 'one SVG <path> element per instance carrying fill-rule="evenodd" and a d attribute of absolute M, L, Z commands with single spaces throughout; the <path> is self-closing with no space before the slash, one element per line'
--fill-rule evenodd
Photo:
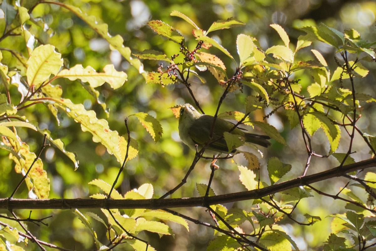
<path fill-rule="evenodd" d="M 376 167 L 376 158 L 360 161 L 346 166 L 301 176 L 273 186 L 252 191 L 228 193 L 209 197 L 179 199 L 0 199 L 0 209 L 72 209 L 72 208 L 148 208 L 161 209 L 172 207 L 207 207 L 227 202 L 245 201 L 262 198 L 293 187 L 304 186 L 318 181 L 343 176 L 346 173 Z"/>

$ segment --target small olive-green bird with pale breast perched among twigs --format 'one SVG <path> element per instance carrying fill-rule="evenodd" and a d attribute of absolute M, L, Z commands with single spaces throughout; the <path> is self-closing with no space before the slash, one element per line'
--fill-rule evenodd
<path fill-rule="evenodd" d="M 178 110 L 179 107 L 180 110 Z M 197 145 L 197 150 L 200 151 L 209 140 L 214 117 L 200 114 L 190 104 L 178 105 L 171 108 L 175 109 L 176 113 L 179 111 L 179 114 L 175 114 L 175 116 L 179 118 L 180 139 L 191 149 L 196 150 Z M 230 131 L 233 126 L 233 123 L 217 117 L 217 119 L 215 119 L 214 130 L 212 133 L 212 143 L 206 147 L 205 152 L 212 155 L 217 155 L 218 153 L 235 153 L 236 149 L 229 151 L 226 141 L 223 138 L 223 133 Z M 233 135 L 239 135 L 246 143 L 252 143 L 263 147 L 271 145 L 268 141 L 270 137 L 267 135 L 245 132 L 240 128 L 235 128 L 230 133 Z"/>

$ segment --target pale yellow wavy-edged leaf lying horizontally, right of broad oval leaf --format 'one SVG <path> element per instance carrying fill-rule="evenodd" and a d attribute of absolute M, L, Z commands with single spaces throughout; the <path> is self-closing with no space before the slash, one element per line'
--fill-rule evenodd
<path fill-rule="evenodd" d="M 83 68 L 77 64 L 72 68 L 61 70 L 57 77 L 67 78 L 71 81 L 80 79 L 82 82 L 88 82 L 93 88 L 99 87 L 107 82 L 112 88 L 117 89 L 123 86 L 127 81 L 127 74 L 123 71 L 115 70 L 114 65 L 108 64 L 103 68 L 103 72 L 96 72 L 91 66 Z"/>

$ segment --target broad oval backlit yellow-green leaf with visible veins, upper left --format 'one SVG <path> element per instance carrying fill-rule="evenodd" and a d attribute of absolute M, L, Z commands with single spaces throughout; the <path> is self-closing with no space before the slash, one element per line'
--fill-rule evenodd
<path fill-rule="evenodd" d="M 27 60 L 27 83 L 38 86 L 56 75 L 63 65 L 61 54 L 55 52 L 55 47 L 47 44 L 36 47 Z"/>

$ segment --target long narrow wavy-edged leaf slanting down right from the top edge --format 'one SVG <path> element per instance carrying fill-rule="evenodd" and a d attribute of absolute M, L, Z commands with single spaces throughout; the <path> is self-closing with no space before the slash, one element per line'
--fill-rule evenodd
<path fill-rule="evenodd" d="M 132 57 L 132 52 L 129 47 L 124 46 L 124 40 L 121 35 L 116 35 L 112 37 L 108 30 L 108 25 L 105 23 L 99 23 L 94 16 L 88 16 L 86 13 L 83 13 L 79 8 L 68 5 L 65 3 L 59 3 L 64 8 L 70 10 L 77 17 L 81 18 L 88 26 L 90 26 L 93 30 L 95 30 L 102 38 L 104 38 L 109 44 L 111 50 L 117 50 L 120 54 L 124 57 L 126 61 L 130 63 L 133 67 L 138 70 L 138 72 L 143 75 L 146 79 L 147 73 L 144 70 L 144 65 L 139 61 L 137 58 Z"/>

